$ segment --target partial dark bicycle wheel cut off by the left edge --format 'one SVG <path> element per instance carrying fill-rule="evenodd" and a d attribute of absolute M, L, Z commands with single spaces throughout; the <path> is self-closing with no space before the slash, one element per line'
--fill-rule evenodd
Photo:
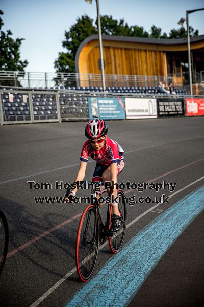
<path fill-rule="evenodd" d="M 0 275 L 4 268 L 9 245 L 9 229 L 6 216 L 0 210 Z"/>

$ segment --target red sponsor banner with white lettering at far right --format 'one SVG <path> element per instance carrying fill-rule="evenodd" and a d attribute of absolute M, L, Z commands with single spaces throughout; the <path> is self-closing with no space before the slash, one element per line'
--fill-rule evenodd
<path fill-rule="evenodd" d="M 204 98 L 186 98 L 186 115 L 204 115 Z"/>

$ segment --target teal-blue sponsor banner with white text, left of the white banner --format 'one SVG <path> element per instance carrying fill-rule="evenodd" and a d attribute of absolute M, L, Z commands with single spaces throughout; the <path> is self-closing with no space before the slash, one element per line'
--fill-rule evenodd
<path fill-rule="evenodd" d="M 123 98 L 88 97 L 89 118 L 125 119 Z"/>

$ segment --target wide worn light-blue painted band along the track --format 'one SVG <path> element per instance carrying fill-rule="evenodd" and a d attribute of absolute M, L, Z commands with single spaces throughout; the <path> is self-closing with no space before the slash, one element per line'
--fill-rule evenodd
<path fill-rule="evenodd" d="M 204 209 L 204 186 L 152 221 L 81 288 L 66 306 L 125 306 L 184 229 Z"/>

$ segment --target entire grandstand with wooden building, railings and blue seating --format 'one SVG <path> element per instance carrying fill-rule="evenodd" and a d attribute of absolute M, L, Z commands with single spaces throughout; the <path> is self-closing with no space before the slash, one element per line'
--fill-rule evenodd
<path fill-rule="evenodd" d="M 98 61 L 92 60 L 99 58 L 96 35 L 81 43 L 75 58 L 77 73 L 0 72 L 1 124 L 88 120 L 91 97 L 148 98 L 158 103 L 160 98 L 179 99 L 185 107 L 189 97 L 188 72 L 183 67 L 186 39 L 104 36 L 103 41 L 106 91 L 101 87 Z M 203 35 L 191 38 L 199 71 L 193 71 L 194 95 L 204 94 L 203 47 Z M 159 82 L 173 82 L 171 95 L 158 91 Z"/>

